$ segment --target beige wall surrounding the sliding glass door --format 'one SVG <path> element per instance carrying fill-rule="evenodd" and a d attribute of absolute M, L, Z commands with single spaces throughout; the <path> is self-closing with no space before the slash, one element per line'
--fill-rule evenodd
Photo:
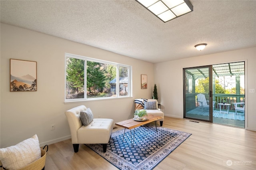
<path fill-rule="evenodd" d="M 256 89 L 256 47 L 155 64 L 154 82 L 164 114 L 183 118 L 183 68 L 237 61 L 245 61 L 246 68 L 246 129 L 256 131 L 256 93 L 249 93 Z"/>

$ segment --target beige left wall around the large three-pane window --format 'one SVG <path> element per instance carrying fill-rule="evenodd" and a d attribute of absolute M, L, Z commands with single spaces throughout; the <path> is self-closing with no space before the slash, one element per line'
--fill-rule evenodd
<path fill-rule="evenodd" d="M 64 104 L 65 57 L 72 53 L 132 66 L 133 97 Z M 10 59 L 37 61 L 36 92 L 10 92 Z M 150 98 L 154 65 L 109 51 L 1 23 L 1 148 L 38 135 L 41 146 L 70 138 L 64 111 L 90 107 L 94 118 L 114 122 L 132 118 L 135 98 Z M 148 89 L 140 88 L 140 75 L 148 75 Z M 55 130 L 51 130 L 51 125 Z"/>

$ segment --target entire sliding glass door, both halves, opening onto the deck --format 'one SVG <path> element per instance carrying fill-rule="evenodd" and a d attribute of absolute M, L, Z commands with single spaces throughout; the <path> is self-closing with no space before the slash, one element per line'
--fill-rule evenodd
<path fill-rule="evenodd" d="M 245 127 L 245 63 L 183 69 L 184 118 Z"/>

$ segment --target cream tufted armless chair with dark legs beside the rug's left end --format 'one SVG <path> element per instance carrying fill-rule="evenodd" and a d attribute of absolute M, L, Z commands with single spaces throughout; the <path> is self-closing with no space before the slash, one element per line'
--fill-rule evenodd
<path fill-rule="evenodd" d="M 65 112 L 74 152 L 78 152 L 79 144 L 102 144 L 103 152 L 106 152 L 114 121 L 113 119 L 93 119 L 91 123 L 84 126 L 80 118 L 80 112 L 86 109 L 84 105 L 81 105 Z"/>

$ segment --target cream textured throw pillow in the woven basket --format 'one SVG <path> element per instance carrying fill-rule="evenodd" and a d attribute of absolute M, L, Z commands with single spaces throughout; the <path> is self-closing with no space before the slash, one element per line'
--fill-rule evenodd
<path fill-rule="evenodd" d="M 39 140 L 35 134 L 15 146 L 0 148 L 0 158 L 4 168 L 17 170 L 41 158 Z"/>

